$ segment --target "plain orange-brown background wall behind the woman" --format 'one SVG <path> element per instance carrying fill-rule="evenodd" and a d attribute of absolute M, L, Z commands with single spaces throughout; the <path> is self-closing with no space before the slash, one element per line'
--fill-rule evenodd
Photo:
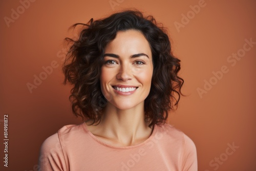
<path fill-rule="evenodd" d="M 236 65 L 227 61 L 232 53 L 243 52 L 245 39 L 256 41 L 256 2 L 205 0 L 195 14 L 190 6 L 198 5 L 198 0 L 113 1 L 117 3 L 113 8 L 109 0 L 35 1 L 24 11 L 19 1 L 0 2 L 1 142 L 4 114 L 9 116 L 9 167 L 3 166 L 1 143 L 0 169 L 36 170 L 41 143 L 63 125 L 81 122 L 71 112 L 70 87 L 61 84 L 62 44 L 70 35 L 68 28 L 134 7 L 168 28 L 173 51 L 182 60 L 187 96 L 169 122 L 194 140 L 199 170 L 215 170 L 218 162 L 209 163 L 217 157 L 225 161 L 216 170 L 256 170 L 256 45 Z M 17 8 L 20 14 L 8 27 L 4 17 L 11 18 Z M 181 23 L 187 13 L 188 24 L 178 30 L 174 23 Z M 34 75 L 39 76 L 52 61 L 58 67 L 30 93 L 27 83 L 33 84 Z M 204 80 L 216 81 L 212 72 L 222 66 L 228 72 L 200 97 L 197 89 L 204 89 Z M 239 148 L 225 158 L 228 143 Z"/>

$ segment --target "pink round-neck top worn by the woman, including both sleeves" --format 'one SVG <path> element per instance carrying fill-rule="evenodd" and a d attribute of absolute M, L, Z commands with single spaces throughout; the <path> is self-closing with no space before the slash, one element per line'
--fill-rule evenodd
<path fill-rule="evenodd" d="M 63 126 L 42 143 L 41 171 L 196 171 L 194 142 L 167 123 L 155 125 L 151 136 L 131 146 L 106 144 L 95 137 L 85 122 Z"/>

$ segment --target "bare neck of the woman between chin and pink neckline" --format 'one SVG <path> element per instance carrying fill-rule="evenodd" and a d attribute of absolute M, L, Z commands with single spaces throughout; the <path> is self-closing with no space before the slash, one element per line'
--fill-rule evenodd
<path fill-rule="evenodd" d="M 108 139 L 116 140 L 119 145 L 133 145 L 143 142 L 151 134 L 145 122 L 144 103 L 132 109 L 120 110 L 108 103 L 99 123 L 99 130 Z"/>

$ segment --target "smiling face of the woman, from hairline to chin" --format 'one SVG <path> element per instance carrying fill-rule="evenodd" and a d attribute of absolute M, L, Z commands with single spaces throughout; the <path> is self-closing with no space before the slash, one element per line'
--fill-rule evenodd
<path fill-rule="evenodd" d="M 119 31 L 105 48 L 100 85 L 107 105 L 121 110 L 144 108 L 153 74 L 152 53 L 144 35 L 135 30 Z"/>

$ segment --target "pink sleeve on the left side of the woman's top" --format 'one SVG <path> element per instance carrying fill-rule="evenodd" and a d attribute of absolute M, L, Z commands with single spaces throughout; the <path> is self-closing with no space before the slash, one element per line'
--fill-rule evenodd
<path fill-rule="evenodd" d="M 42 143 L 38 165 L 40 171 L 67 170 L 58 133 L 50 136 Z"/>

